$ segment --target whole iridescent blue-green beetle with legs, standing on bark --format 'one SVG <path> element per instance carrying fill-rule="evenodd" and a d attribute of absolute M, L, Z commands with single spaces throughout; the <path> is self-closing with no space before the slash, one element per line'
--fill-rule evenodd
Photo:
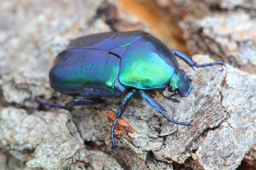
<path fill-rule="evenodd" d="M 199 65 L 184 53 L 170 50 L 162 41 L 143 31 L 108 32 L 77 38 L 58 54 L 49 77 L 54 90 L 82 96 L 83 99 L 74 99 L 65 106 L 47 104 L 69 110 L 75 105 L 122 100 L 111 128 L 115 149 L 119 149 L 114 141 L 115 125 L 135 94 L 162 113 L 169 122 L 189 126 L 191 122 L 177 122 L 168 117 L 166 110 L 154 100 L 167 89 L 173 92 L 168 99 L 178 103 L 173 97 L 186 97 L 192 89 L 190 79 L 179 69 L 175 56 L 192 68 L 225 65 L 222 61 Z"/>

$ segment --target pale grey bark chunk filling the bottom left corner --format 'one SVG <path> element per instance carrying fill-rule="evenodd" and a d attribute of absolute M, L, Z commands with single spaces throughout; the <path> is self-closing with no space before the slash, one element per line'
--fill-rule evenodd
<path fill-rule="evenodd" d="M 27 114 L 23 109 L 7 107 L 0 112 L 0 127 L 5 150 L 27 162 L 28 167 L 123 169 L 109 155 L 87 150 L 66 110 Z"/>

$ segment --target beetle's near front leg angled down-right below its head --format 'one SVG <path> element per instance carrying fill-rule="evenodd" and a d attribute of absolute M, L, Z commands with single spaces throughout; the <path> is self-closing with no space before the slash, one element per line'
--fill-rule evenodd
<path fill-rule="evenodd" d="M 169 118 L 165 113 L 164 113 L 164 108 L 159 105 L 155 100 L 153 100 L 149 95 L 147 95 L 143 90 L 139 90 L 140 95 L 142 96 L 142 98 L 152 107 L 154 107 L 156 109 L 157 112 L 161 112 L 162 115 L 167 118 L 169 120 L 169 122 L 172 122 L 176 125 L 190 125 L 192 123 L 191 122 L 178 122 L 176 120 L 173 120 L 172 118 Z"/>

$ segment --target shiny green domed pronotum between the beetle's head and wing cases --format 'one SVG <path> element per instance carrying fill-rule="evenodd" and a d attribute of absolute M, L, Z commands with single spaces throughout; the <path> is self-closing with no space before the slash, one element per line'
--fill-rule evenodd
<path fill-rule="evenodd" d="M 174 54 L 163 42 L 144 35 L 134 41 L 122 56 L 119 81 L 138 89 L 164 88 L 178 67 Z"/>

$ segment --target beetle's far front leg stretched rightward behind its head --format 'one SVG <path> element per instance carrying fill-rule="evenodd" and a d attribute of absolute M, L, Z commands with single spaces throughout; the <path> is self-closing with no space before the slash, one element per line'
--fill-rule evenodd
<path fill-rule="evenodd" d="M 216 61 L 214 63 L 207 63 L 207 64 L 197 64 L 190 57 L 185 55 L 184 53 L 182 53 L 178 50 L 171 50 L 171 51 L 174 53 L 174 55 L 176 55 L 177 57 L 179 57 L 180 59 L 185 61 L 192 68 L 193 68 L 193 66 L 195 66 L 195 67 L 206 67 L 206 66 L 212 66 L 212 65 L 215 65 L 215 64 L 222 64 L 222 65 L 225 66 L 225 64 L 222 61 Z"/>

